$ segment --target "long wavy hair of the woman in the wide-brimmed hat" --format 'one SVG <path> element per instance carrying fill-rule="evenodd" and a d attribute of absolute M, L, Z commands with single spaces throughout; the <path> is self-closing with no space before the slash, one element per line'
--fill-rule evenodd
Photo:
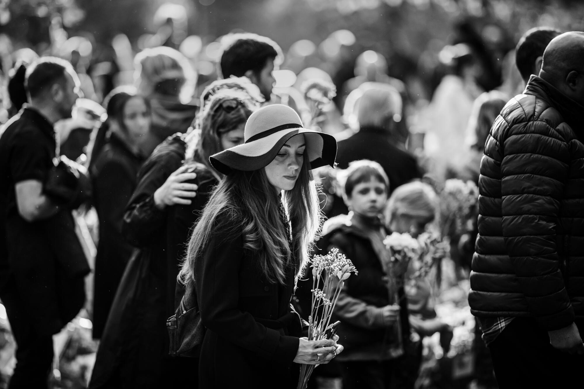
<path fill-rule="evenodd" d="M 321 226 L 317 189 L 306 153 L 296 185 L 284 192 L 282 202 L 292 227 L 291 244 L 280 218 L 280 199 L 274 194 L 265 169 L 234 171 L 225 176 L 194 227 L 180 271 L 182 279 L 194 279 L 194 264 L 218 228 L 231 230 L 234 236 L 242 232 L 244 249 L 258 258 L 267 281 L 283 284 L 287 268 L 293 268 L 294 274 L 300 276 Z M 219 223 L 219 218 L 230 223 Z"/>

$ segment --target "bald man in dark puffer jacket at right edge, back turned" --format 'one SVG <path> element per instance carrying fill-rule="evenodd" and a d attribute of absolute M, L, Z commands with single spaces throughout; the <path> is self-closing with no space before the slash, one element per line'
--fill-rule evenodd
<path fill-rule="evenodd" d="M 468 302 L 505 388 L 584 385 L 584 33 L 551 40 L 539 76 L 485 144 Z"/>

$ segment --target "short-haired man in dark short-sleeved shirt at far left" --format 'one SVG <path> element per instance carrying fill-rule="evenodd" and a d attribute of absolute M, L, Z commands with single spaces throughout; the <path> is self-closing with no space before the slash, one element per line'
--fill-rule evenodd
<path fill-rule="evenodd" d="M 27 69 L 25 88 L 30 105 L 0 129 L 0 209 L 6 228 L 0 298 L 18 346 L 9 388 L 47 388 L 52 336 L 85 300 L 83 277 L 69 276 L 72 268 L 58 263 L 63 252 L 81 247 L 61 239 L 75 236 L 71 212 L 47 194 L 58 154 L 53 124 L 71 117 L 79 79 L 68 62 L 47 57 Z"/>

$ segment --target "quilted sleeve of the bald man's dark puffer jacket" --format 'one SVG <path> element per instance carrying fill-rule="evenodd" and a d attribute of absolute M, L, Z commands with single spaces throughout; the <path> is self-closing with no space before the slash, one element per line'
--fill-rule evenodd
<path fill-rule="evenodd" d="M 575 316 L 556 235 L 569 145 L 562 131 L 543 119 L 495 123 L 493 128 L 485 152 L 500 153 L 503 240 L 520 289 L 542 328 L 566 327 Z"/>

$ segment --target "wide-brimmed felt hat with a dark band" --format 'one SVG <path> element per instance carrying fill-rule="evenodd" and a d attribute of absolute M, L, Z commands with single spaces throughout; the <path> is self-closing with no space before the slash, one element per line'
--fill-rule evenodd
<path fill-rule="evenodd" d="M 304 134 L 310 168 L 335 165 L 336 140 L 329 134 L 304 128 L 300 116 L 286 105 L 262 107 L 245 123 L 245 143 L 211 155 L 217 171 L 229 174 L 233 169 L 258 170 L 270 164 L 280 148 L 293 136 Z"/>

